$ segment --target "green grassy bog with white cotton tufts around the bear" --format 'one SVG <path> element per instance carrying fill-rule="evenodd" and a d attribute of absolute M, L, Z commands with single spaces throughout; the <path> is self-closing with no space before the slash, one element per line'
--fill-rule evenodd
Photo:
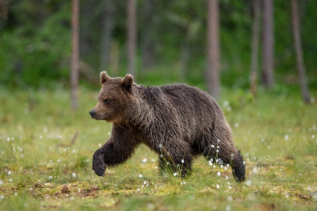
<path fill-rule="evenodd" d="M 126 164 L 96 176 L 92 155 L 111 130 L 89 116 L 97 94 L 81 88 L 72 111 L 62 89 L 0 90 L 2 210 L 317 209 L 317 106 L 299 94 L 275 88 L 253 98 L 222 90 L 219 103 L 246 159 L 242 184 L 230 168 L 213 168 L 203 157 L 189 178 L 162 176 L 157 155 L 144 145 Z"/>

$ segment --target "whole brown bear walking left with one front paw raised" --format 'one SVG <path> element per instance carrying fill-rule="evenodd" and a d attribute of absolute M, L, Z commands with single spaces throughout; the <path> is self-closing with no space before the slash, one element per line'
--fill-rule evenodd
<path fill-rule="evenodd" d="M 93 170 L 103 176 L 106 167 L 127 161 L 144 143 L 159 154 L 159 166 L 187 175 L 193 158 L 229 164 L 237 182 L 245 180 L 245 164 L 235 148 L 231 129 L 217 101 L 185 84 L 145 87 L 133 76 L 111 78 L 101 72 L 98 103 L 89 113 L 111 122 L 111 137 L 95 151 Z"/>

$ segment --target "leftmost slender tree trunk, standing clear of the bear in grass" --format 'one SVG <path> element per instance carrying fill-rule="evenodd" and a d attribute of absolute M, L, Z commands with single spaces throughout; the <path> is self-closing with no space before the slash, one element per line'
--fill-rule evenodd
<path fill-rule="evenodd" d="M 71 106 L 77 109 L 78 60 L 79 60 L 79 0 L 72 0 L 72 54 L 71 54 Z"/>

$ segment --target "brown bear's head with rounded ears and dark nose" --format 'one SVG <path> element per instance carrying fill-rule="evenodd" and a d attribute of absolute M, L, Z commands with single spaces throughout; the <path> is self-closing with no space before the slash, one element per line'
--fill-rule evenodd
<path fill-rule="evenodd" d="M 124 78 L 111 78 L 103 71 L 100 73 L 100 82 L 102 87 L 98 103 L 89 112 L 90 116 L 96 120 L 121 122 L 132 102 L 133 76 L 127 74 Z"/>

